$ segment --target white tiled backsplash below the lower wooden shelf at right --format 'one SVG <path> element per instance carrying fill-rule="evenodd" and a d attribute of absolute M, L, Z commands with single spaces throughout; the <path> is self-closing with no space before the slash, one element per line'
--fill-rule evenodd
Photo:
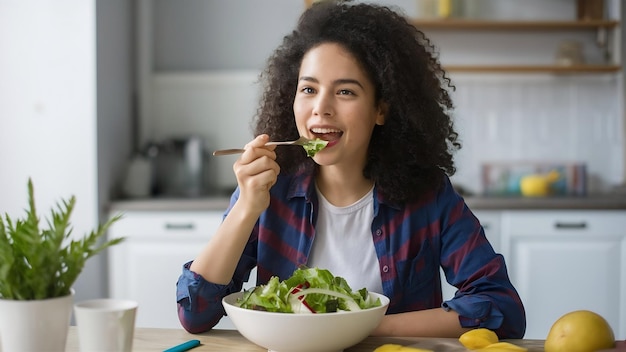
<path fill-rule="evenodd" d="M 624 119 L 615 75 L 452 75 L 463 148 L 454 181 L 482 190 L 498 162 L 587 165 L 588 192 L 624 182 Z"/>

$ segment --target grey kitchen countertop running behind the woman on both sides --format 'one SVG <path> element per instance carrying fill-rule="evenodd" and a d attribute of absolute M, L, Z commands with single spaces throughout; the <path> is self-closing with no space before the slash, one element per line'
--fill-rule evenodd
<path fill-rule="evenodd" d="M 143 198 L 113 201 L 109 211 L 224 211 L 229 197 Z M 472 210 L 626 210 L 626 194 L 580 197 L 466 196 Z"/>

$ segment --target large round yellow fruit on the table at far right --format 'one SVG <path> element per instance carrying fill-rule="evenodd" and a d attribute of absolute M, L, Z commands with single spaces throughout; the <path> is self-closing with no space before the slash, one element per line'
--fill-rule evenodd
<path fill-rule="evenodd" d="M 615 346 L 609 323 L 588 310 L 569 312 L 552 325 L 544 349 L 546 352 L 588 352 Z"/>

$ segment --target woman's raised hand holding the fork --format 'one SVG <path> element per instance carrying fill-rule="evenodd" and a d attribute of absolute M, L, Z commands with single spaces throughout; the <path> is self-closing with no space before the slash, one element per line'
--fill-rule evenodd
<path fill-rule="evenodd" d="M 249 211 L 260 214 L 270 203 L 270 188 L 276 183 L 280 167 L 276 146 L 266 146 L 269 136 L 262 134 L 245 146 L 245 152 L 233 165 L 239 185 L 239 202 Z"/>

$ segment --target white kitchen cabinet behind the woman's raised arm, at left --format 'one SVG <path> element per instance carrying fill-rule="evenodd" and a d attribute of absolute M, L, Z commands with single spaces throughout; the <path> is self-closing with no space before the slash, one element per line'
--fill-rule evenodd
<path fill-rule="evenodd" d="M 139 302 L 137 327 L 180 328 L 176 281 L 222 221 L 221 211 L 132 211 L 109 231 L 110 296 Z M 256 273 L 244 287 L 254 286 Z M 216 328 L 232 329 L 227 317 Z"/>

